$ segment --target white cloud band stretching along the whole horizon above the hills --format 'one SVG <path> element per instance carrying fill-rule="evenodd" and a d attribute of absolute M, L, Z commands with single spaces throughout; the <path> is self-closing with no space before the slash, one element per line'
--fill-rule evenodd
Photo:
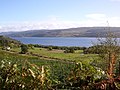
<path fill-rule="evenodd" d="M 15 22 L 12 24 L 0 26 L 0 32 L 108 26 L 107 21 L 109 22 L 110 26 L 120 27 L 120 17 L 110 17 L 105 14 L 93 13 L 85 15 L 83 20 L 77 21 L 61 20 L 60 17 L 50 17 L 47 20 L 40 22 Z"/>

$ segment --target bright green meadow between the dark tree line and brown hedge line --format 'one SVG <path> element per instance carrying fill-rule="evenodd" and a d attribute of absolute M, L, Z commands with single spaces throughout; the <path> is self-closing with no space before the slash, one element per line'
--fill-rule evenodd
<path fill-rule="evenodd" d="M 37 53 L 42 56 L 48 56 L 50 58 L 58 58 L 69 61 L 91 61 L 96 59 L 97 55 L 95 54 L 83 54 L 82 50 L 77 50 L 75 53 L 64 53 L 63 50 L 52 50 L 34 48 L 29 50 L 32 53 Z"/>

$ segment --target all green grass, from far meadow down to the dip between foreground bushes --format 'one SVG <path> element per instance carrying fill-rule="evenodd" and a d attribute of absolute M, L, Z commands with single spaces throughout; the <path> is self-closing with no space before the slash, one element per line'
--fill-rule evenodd
<path fill-rule="evenodd" d="M 0 60 L 9 60 L 12 62 L 25 64 L 25 61 L 29 61 L 31 64 L 36 64 L 39 67 L 47 65 L 51 71 L 51 77 L 54 80 L 64 82 L 65 78 L 75 68 L 76 63 L 71 62 L 83 62 L 90 65 L 91 62 L 97 60 L 98 56 L 95 54 L 83 54 L 82 50 L 76 50 L 75 53 L 64 53 L 64 50 L 47 50 L 45 48 L 29 49 L 29 53 L 37 54 L 19 54 L 20 48 L 12 48 L 11 51 L 5 51 L 0 49 Z M 47 57 L 47 58 L 45 58 Z M 54 59 L 53 59 L 54 58 Z M 95 62 L 95 64 L 98 64 Z M 101 66 L 100 66 L 101 67 Z"/>

